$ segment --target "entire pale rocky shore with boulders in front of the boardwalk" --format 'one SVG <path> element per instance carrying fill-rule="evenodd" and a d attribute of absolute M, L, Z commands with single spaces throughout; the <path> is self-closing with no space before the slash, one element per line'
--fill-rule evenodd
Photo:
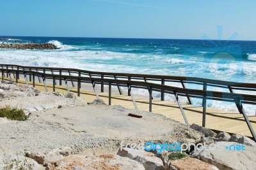
<path fill-rule="evenodd" d="M 0 169 L 255 169 L 256 143 L 246 136 L 216 134 L 199 125 L 185 125 L 146 111 L 87 104 L 76 94 L 40 92 L 9 81 L 0 82 L 0 108 L 18 106 L 28 120 L 0 117 Z M 129 113 L 141 118 L 129 117 Z M 173 153 L 123 148 L 120 143 L 213 143 L 173 159 Z M 236 147 L 227 150 L 226 146 Z M 172 157 L 170 157 L 170 155 Z M 172 159 L 170 159 L 172 158 Z"/>

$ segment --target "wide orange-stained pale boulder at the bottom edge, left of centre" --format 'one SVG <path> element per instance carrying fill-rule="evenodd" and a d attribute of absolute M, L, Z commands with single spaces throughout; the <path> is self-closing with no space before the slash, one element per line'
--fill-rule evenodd
<path fill-rule="evenodd" d="M 142 164 L 127 157 L 104 154 L 99 156 L 72 155 L 56 160 L 47 165 L 46 169 L 145 169 Z"/>

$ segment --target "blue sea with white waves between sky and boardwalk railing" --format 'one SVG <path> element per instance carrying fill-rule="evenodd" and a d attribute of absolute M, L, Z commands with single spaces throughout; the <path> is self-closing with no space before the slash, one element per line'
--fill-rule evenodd
<path fill-rule="evenodd" d="M 60 50 L 0 49 L 2 64 L 256 83 L 256 41 L 8 36 L 8 43 L 15 41 L 52 43 Z M 169 99 L 175 100 L 173 97 Z M 208 105 L 216 106 L 212 103 Z M 225 104 L 218 106 L 224 110 L 232 107 Z M 250 112 L 255 113 L 255 109 Z"/>

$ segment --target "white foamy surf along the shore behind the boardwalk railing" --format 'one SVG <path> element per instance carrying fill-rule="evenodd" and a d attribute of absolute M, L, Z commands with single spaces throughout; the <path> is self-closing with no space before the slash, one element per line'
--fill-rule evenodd
<path fill-rule="evenodd" d="M 58 41 L 54 41 L 58 43 Z M 60 43 L 60 42 L 59 42 Z M 61 47 L 61 43 L 59 44 Z M 65 46 L 65 45 L 63 45 Z M 69 47 L 68 47 L 69 48 Z M 63 48 L 61 48 L 63 49 Z M 67 48 L 64 48 L 67 49 Z M 0 60 L 3 64 L 18 64 L 23 66 L 45 66 L 45 67 L 72 67 L 77 69 L 86 69 L 91 71 L 107 71 L 116 73 L 138 73 L 138 74 L 166 74 L 177 76 L 200 76 L 202 73 L 210 72 L 210 64 L 195 61 L 187 61 L 182 59 L 182 55 L 154 55 L 151 54 L 136 54 L 136 53 L 119 53 L 108 51 L 95 51 L 95 50 L 0 50 Z M 166 58 L 168 57 L 168 58 Z M 172 58 L 171 58 L 172 57 Z M 170 64 L 177 64 L 175 68 L 166 67 Z M 194 64 L 195 63 L 195 64 Z M 148 67 L 140 67 L 148 65 Z M 182 64 L 182 67 L 179 67 Z M 236 62 L 237 67 L 231 65 L 212 66 L 213 71 L 219 70 L 223 72 L 223 76 L 226 74 L 244 74 L 250 82 L 256 82 L 256 66 L 254 62 Z M 220 65 L 220 66 L 219 66 Z M 140 67 L 140 68 L 139 68 Z M 214 73 L 212 73 L 214 74 Z M 209 77 L 214 78 L 214 77 Z M 246 79 L 247 80 L 247 79 Z M 230 80 L 228 80 L 230 81 Z M 168 83 L 167 83 L 168 84 Z M 179 84 L 170 84 L 173 86 L 181 87 Z M 190 86 L 190 89 L 202 89 L 200 86 Z M 132 89 L 134 94 L 148 95 L 147 90 Z M 208 90 L 211 90 L 209 88 Z M 154 92 L 155 98 L 160 97 L 159 92 Z M 175 97 L 170 94 L 166 94 L 165 99 L 175 102 Z M 186 97 L 180 97 L 182 103 L 188 103 Z M 201 99 L 193 99 L 193 102 L 202 104 Z M 208 103 L 208 101 L 207 101 Z M 212 108 L 218 108 L 221 110 L 236 111 L 234 104 L 225 104 L 223 102 L 211 102 L 208 105 Z M 246 105 L 246 113 L 255 114 L 255 106 Z"/>

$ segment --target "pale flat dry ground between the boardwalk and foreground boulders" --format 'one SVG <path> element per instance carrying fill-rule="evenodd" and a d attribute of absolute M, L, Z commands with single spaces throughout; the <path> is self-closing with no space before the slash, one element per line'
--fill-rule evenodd
<path fill-rule="evenodd" d="M 0 118 L 0 157 L 48 153 L 69 147 L 72 154 L 116 153 L 120 141 L 198 142 L 202 134 L 162 115 L 100 101 L 87 104 L 74 94 L 40 92 L 31 87 L 0 83 L 0 106 L 18 106 L 26 121 Z M 129 117 L 129 113 L 142 118 Z"/>

